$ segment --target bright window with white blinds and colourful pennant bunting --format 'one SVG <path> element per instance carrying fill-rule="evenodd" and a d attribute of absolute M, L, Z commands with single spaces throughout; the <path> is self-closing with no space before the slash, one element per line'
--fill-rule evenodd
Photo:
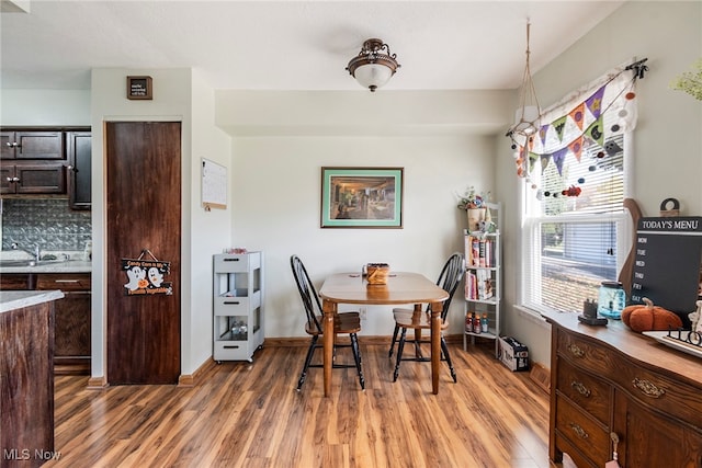
<path fill-rule="evenodd" d="M 582 311 L 585 300 L 597 300 L 601 282 L 616 281 L 629 254 L 632 227 L 622 203 L 635 125 L 626 94 L 634 80 L 623 70 L 612 76 L 544 112 L 542 123 L 550 124 L 526 142 L 528 150 L 518 149 L 529 155 L 521 275 L 521 301 L 529 309 Z M 601 112 L 589 106 L 593 95 Z"/>

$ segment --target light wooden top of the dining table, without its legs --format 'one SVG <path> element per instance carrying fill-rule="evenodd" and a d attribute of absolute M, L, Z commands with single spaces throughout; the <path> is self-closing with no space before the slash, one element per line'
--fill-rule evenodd
<path fill-rule="evenodd" d="M 441 303 L 449 293 L 418 273 L 393 272 L 387 284 L 369 284 L 360 273 L 337 273 L 328 276 L 319 296 L 343 304 L 424 304 Z"/>

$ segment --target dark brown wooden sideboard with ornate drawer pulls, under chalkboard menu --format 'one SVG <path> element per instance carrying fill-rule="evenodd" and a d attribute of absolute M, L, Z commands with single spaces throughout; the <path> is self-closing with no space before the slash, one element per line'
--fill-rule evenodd
<path fill-rule="evenodd" d="M 580 467 L 702 467 L 702 358 L 669 349 L 610 320 L 552 324 L 548 455 Z"/>

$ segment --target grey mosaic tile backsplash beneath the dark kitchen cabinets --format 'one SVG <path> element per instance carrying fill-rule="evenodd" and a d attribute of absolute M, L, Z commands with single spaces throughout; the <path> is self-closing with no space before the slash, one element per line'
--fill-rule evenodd
<path fill-rule="evenodd" d="M 91 214 L 68 207 L 66 198 L 3 198 L 2 250 L 82 251 L 92 240 Z"/>

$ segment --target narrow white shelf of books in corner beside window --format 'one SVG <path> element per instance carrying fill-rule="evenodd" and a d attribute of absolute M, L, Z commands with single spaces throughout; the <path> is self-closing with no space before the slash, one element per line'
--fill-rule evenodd
<path fill-rule="evenodd" d="M 501 226 L 500 204 L 488 203 L 492 221 L 496 224 L 495 232 L 468 231 L 464 229 L 466 272 L 464 275 L 464 296 L 466 310 L 464 323 L 468 313 L 483 317 L 487 313 L 488 331 L 475 333 L 464 327 L 463 350 L 467 351 L 468 341 L 475 344 L 475 338 L 484 338 L 495 341 L 495 355 L 497 356 L 498 338 L 501 330 L 501 239 L 499 227 Z"/>

